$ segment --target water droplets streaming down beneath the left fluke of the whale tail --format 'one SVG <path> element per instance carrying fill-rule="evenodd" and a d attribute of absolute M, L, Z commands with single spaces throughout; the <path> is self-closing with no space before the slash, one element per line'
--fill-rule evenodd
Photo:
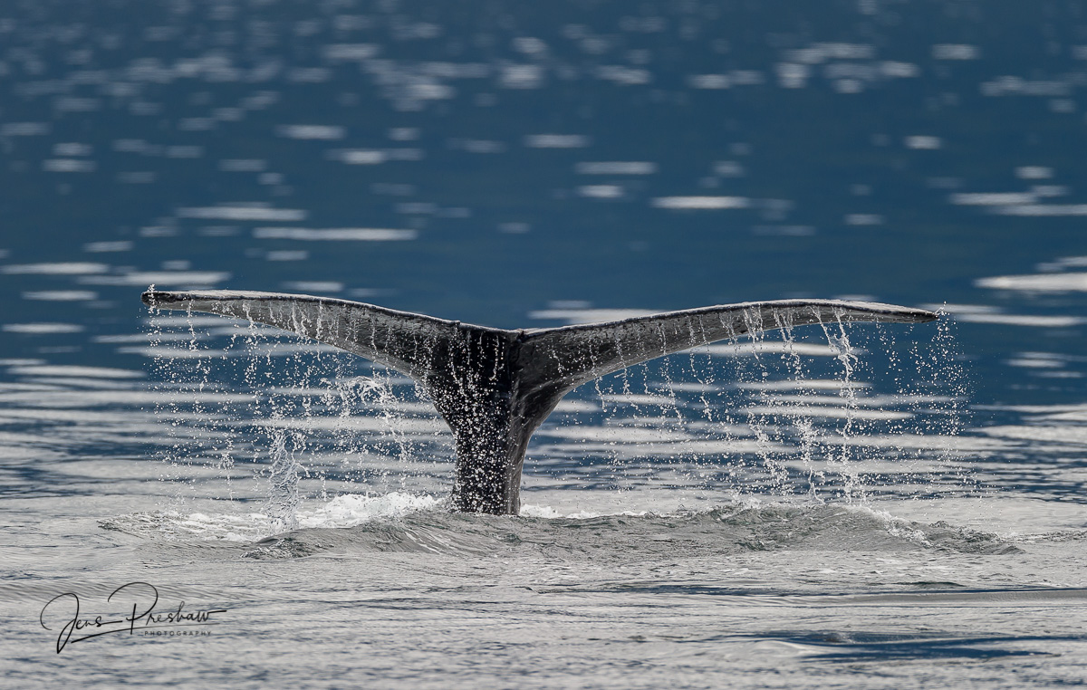
<path fill-rule="evenodd" d="M 289 529 L 309 499 L 441 491 L 449 434 L 408 379 L 246 322 L 149 323 L 155 415 L 171 438 L 162 475 L 177 502 L 253 502 Z"/>

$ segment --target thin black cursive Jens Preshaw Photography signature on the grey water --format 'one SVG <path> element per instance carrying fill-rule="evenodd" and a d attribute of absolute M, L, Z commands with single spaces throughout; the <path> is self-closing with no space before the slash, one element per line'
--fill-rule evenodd
<path fill-rule="evenodd" d="M 135 635 L 137 628 L 164 627 L 178 625 L 211 625 L 211 616 L 216 613 L 226 613 L 226 609 L 202 609 L 199 611 L 185 611 L 185 602 L 177 604 L 177 609 L 157 612 L 159 604 L 159 590 L 148 582 L 128 582 L 113 590 L 105 598 L 107 603 L 124 604 L 121 609 L 123 613 L 116 616 L 97 615 L 93 617 L 82 616 L 79 611 L 79 595 L 75 592 L 58 594 L 49 600 L 41 609 L 38 622 L 41 627 L 52 630 L 46 624 L 46 614 L 53 618 L 61 616 L 64 622 L 57 636 L 57 653 L 60 654 L 68 643 L 83 642 L 112 632 L 128 631 Z M 129 607 L 127 604 L 132 603 Z M 67 606 L 67 609 L 65 609 Z M 60 614 L 55 612 L 60 611 Z M 117 617 L 120 616 L 120 617 Z"/>

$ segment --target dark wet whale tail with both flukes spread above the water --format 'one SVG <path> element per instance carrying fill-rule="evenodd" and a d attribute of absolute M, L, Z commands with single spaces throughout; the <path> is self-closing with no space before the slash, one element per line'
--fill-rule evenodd
<path fill-rule="evenodd" d="M 937 318 L 925 310 L 874 302 L 777 300 L 505 330 L 307 294 L 152 290 L 142 300 L 157 310 L 208 312 L 283 328 L 412 377 L 453 431 L 453 507 L 492 514 L 520 511 L 528 439 L 562 397 L 582 384 L 749 333 Z"/>

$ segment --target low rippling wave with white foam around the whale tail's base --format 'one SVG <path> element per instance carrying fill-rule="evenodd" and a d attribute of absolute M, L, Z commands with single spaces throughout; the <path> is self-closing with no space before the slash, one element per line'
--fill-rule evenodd
<path fill-rule="evenodd" d="M 154 512 L 100 522 L 153 541 L 217 544 L 249 559 L 373 552 L 536 554 L 542 557 L 684 557 L 755 551 L 1004 554 L 1008 537 L 945 522 L 919 523 L 865 505 L 763 503 L 702 511 L 562 514 L 526 506 L 518 516 L 450 513 L 430 495 L 347 494 L 300 511 L 297 527 L 259 513 Z"/>

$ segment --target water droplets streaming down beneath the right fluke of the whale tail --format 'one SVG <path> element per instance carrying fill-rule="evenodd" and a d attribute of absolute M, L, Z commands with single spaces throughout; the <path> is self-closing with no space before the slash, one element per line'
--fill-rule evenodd
<path fill-rule="evenodd" d="M 625 377 L 616 374 L 575 392 L 586 399 L 602 396 L 608 404 L 604 418 L 577 423 L 585 439 L 601 425 L 646 424 L 646 400 L 633 396 L 624 402 L 639 376 L 646 377 L 639 388 L 647 393 L 669 391 L 662 400 L 670 404 L 651 421 L 675 432 L 674 449 L 659 454 L 651 439 L 633 432 L 628 442 L 613 440 L 611 451 L 600 454 L 611 459 L 602 463 L 611 481 L 660 486 L 660 461 L 674 457 L 669 466 L 683 473 L 688 485 L 717 493 L 727 489 L 849 502 L 900 485 L 913 485 L 915 492 L 930 491 L 933 485 L 947 490 L 966 486 L 949 442 L 961 424 L 964 391 L 953 380 L 942 386 L 927 374 L 922 376 L 927 384 L 917 380 L 919 373 L 932 367 L 922 359 L 944 363 L 939 366 L 947 375 L 954 359 L 947 326 L 941 325 L 935 340 L 912 347 L 913 331 L 896 340 L 895 330 L 882 326 L 838 321 L 824 328 L 780 326 L 776 333 L 741 336 L 645 369 L 632 367 Z M 955 380 L 961 379 L 958 371 Z M 578 435 L 573 423 L 566 430 Z M 591 446 L 548 447 L 549 456 L 559 452 L 575 455 L 572 462 L 592 462 Z"/>

